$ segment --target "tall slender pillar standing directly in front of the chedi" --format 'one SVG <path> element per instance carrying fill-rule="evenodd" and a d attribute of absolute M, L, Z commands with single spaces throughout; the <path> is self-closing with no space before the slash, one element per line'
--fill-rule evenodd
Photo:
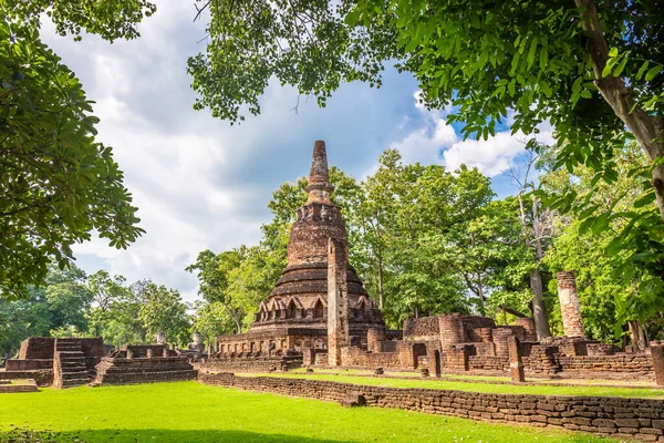
<path fill-rule="evenodd" d="M 341 348 L 349 344 L 349 288 L 346 245 L 328 239 L 328 364 L 342 364 Z"/>

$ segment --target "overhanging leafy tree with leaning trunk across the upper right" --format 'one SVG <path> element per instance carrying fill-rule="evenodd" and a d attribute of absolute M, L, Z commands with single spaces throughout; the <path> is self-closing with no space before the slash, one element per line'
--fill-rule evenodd
<path fill-rule="evenodd" d="M 274 75 L 324 105 L 342 82 L 381 85 L 396 60 L 430 107 L 477 138 L 509 110 L 512 132 L 551 121 L 558 161 L 614 179 L 610 145 L 624 126 L 651 161 L 664 156 L 664 8 L 658 1 L 432 2 L 427 0 L 206 2 L 206 54 L 189 59 L 196 107 L 236 122 L 258 114 Z M 197 16 L 199 17 L 199 16 Z M 531 144 L 532 146 L 532 144 Z M 664 219 L 664 164 L 652 164 Z"/>

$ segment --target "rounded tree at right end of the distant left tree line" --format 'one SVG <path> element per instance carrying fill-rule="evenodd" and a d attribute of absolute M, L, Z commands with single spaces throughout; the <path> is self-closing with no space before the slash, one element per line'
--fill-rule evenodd
<path fill-rule="evenodd" d="M 179 292 L 164 285 L 148 284 L 145 287 L 145 305 L 141 306 L 138 319 L 148 334 L 166 334 L 172 343 L 186 344 L 189 338 L 187 305 Z"/>

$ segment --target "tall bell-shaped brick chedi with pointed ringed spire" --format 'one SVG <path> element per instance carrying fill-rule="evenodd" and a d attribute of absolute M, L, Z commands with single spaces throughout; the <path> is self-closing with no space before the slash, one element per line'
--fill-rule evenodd
<path fill-rule="evenodd" d="M 332 332 L 338 347 L 365 344 L 369 329 L 385 328 L 375 301 L 347 262 L 347 234 L 341 207 L 330 198 L 333 189 L 325 143 L 317 141 L 307 188 L 309 199 L 295 212 L 287 268 L 260 303 L 249 332 L 219 337 L 220 357 L 326 349 L 329 320 L 339 326 L 333 329 L 341 334 Z M 329 269 L 330 254 L 335 257 L 333 269 Z M 339 296 L 340 305 L 329 319 L 330 289 Z"/>

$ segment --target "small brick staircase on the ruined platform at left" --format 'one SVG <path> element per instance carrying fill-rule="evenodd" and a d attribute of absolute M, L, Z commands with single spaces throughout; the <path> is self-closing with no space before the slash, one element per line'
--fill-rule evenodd
<path fill-rule="evenodd" d="M 56 339 L 53 356 L 53 387 L 65 389 L 90 382 L 85 354 L 77 339 Z"/>

